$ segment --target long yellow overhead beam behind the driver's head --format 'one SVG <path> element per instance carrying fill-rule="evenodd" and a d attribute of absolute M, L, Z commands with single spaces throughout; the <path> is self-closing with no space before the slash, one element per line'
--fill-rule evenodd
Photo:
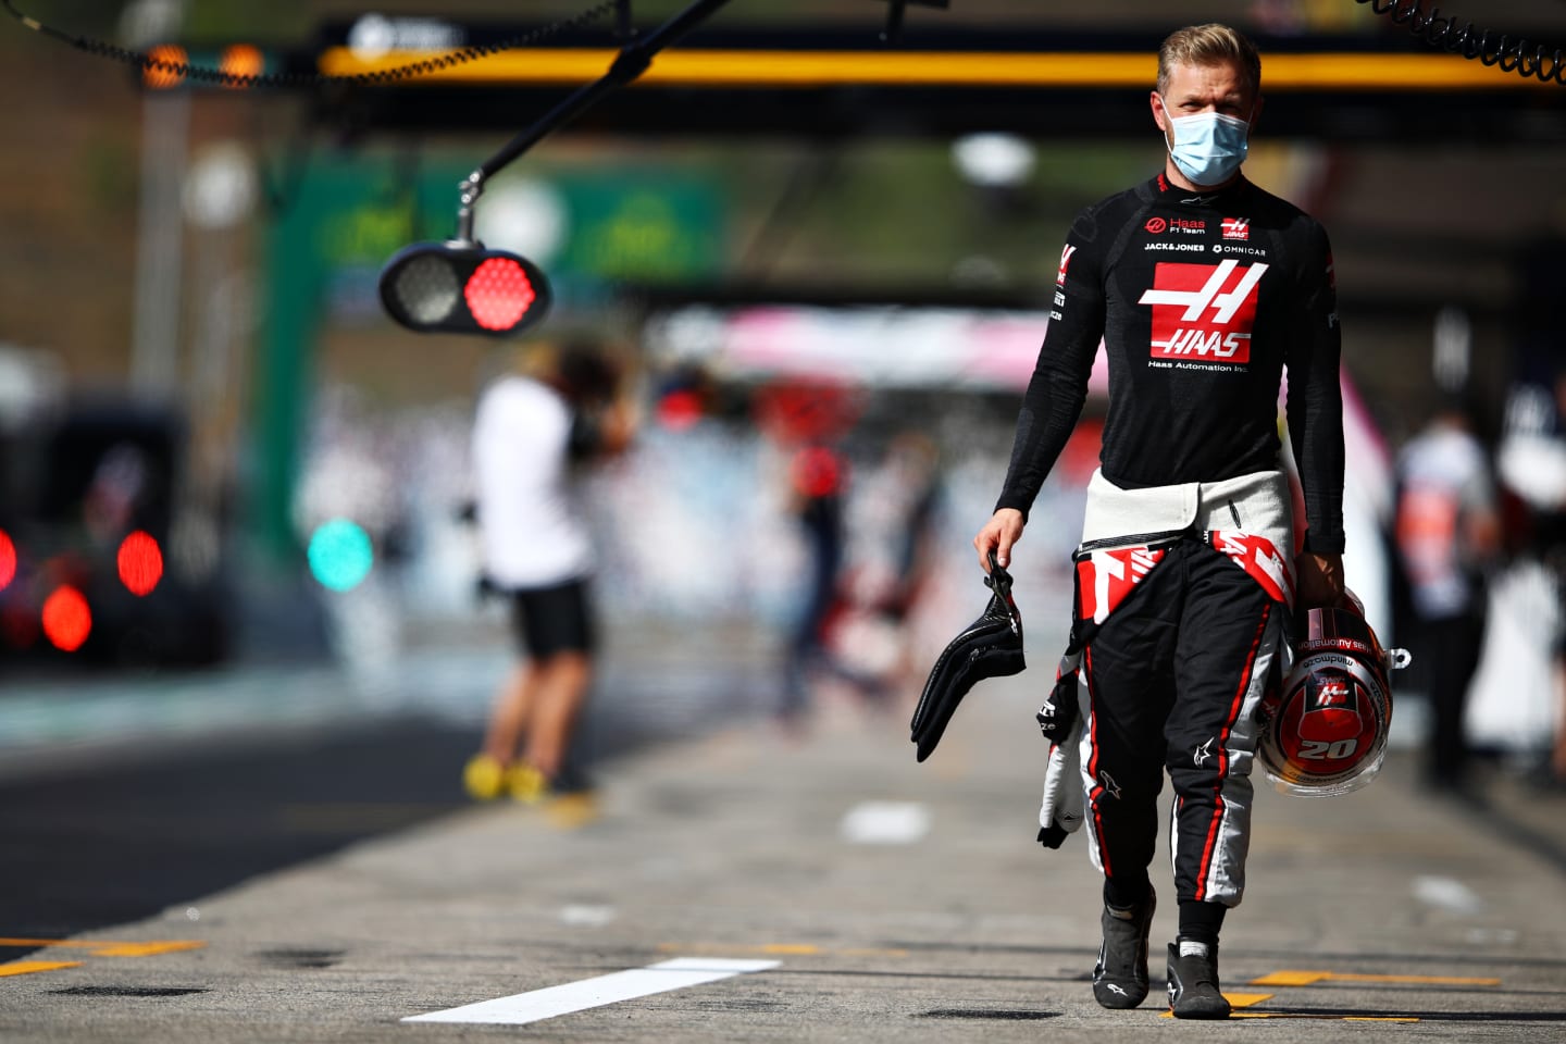
<path fill-rule="evenodd" d="M 601 77 L 619 52 L 609 49 L 507 50 L 429 72 L 443 85 L 575 86 Z M 321 53 L 323 74 L 374 74 L 437 55 L 387 52 L 373 61 L 348 47 Z M 694 88 L 1151 88 L 1153 55 L 1120 52 L 858 52 L 858 50 L 670 50 L 637 83 Z M 1500 91 L 1561 89 L 1456 55 L 1267 55 L 1264 92 L 1287 91 Z"/>

